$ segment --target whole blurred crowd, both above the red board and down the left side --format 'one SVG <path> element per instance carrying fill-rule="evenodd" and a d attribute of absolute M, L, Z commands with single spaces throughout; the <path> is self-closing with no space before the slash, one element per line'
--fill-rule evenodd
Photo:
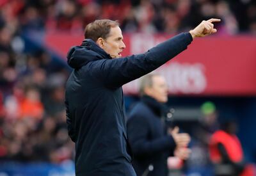
<path fill-rule="evenodd" d="M 222 19 L 222 35 L 256 35 L 250 0 L 0 0 L 0 161 L 74 157 L 65 123 L 69 72 L 52 67 L 47 51 L 22 52 L 23 31 L 77 33 L 95 19 L 118 19 L 126 33 L 178 33 L 210 17 Z"/>

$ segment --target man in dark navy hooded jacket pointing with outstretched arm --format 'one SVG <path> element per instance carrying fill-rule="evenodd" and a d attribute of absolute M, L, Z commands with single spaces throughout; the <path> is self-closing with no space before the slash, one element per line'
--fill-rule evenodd
<path fill-rule="evenodd" d="M 95 20 L 85 39 L 67 54 L 74 68 L 66 85 L 68 134 L 76 143 L 76 175 L 136 175 L 127 141 L 122 85 L 160 67 L 196 36 L 216 33 L 210 19 L 143 54 L 122 58 L 122 31 L 112 20 Z M 115 59 L 118 58 L 118 59 Z"/>

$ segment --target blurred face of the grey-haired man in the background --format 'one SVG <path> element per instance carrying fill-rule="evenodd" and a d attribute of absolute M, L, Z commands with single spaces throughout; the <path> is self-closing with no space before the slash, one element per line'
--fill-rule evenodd
<path fill-rule="evenodd" d="M 152 77 L 152 87 L 147 88 L 147 95 L 153 97 L 158 102 L 167 102 L 168 100 L 168 86 L 163 76 Z"/>

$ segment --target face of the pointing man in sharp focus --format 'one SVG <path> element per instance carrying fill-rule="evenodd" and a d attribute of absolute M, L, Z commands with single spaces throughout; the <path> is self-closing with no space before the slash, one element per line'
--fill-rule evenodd
<path fill-rule="evenodd" d="M 103 41 L 104 45 L 101 47 L 111 56 L 111 58 L 120 58 L 122 56 L 121 52 L 125 49 L 123 39 L 121 29 L 116 26 L 110 29 L 109 36 Z"/>

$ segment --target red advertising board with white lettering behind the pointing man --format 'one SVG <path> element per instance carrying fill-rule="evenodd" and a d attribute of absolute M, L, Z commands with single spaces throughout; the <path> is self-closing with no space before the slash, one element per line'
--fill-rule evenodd
<path fill-rule="evenodd" d="M 123 56 L 147 51 L 168 35 L 124 35 Z M 65 59 L 83 35 L 47 34 L 45 43 Z M 196 38 L 188 49 L 158 68 L 166 77 L 170 94 L 256 95 L 256 37 L 207 36 Z M 124 85 L 125 93 L 137 93 L 139 81 Z"/>

